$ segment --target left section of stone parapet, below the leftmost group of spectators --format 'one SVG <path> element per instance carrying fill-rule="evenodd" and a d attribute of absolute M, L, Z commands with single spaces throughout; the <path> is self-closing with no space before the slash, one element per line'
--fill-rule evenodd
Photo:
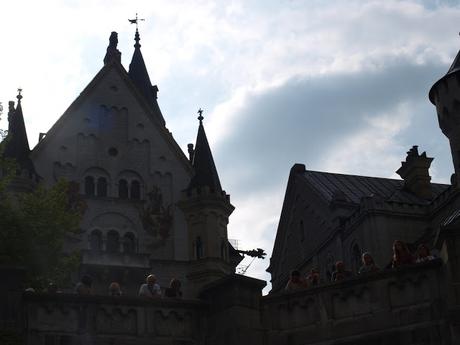
<path fill-rule="evenodd" d="M 195 300 L 24 294 L 27 344 L 202 343 L 207 305 Z"/>

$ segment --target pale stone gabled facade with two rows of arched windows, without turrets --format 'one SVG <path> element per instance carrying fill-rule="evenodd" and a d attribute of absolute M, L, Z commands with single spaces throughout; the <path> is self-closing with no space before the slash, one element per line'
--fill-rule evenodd
<path fill-rule="evenodd" d="M 105 264 L 98 251 L 120 260 L 128 250 L 133 260 L 188 259 L 176 203 L 193 168 L 117 59 L 105 64 L 31 156 L 45 184 L 65 178 L 85 196 L 79 249 L 92 254 L 87 263 Z M 102 214 L 110 226 L 94 222 Z M 117 214 L 132 224 L 118 222 Z M 123 266 L 120 260 L 111 258 Z"/>

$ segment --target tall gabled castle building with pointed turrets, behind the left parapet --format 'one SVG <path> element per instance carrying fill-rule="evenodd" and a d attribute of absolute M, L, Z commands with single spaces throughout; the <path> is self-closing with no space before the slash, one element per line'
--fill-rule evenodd
<path fill-rule="evenodd" d="M 16 108 L 10 102 L 5 155 L 46 186 L 60 178 L 78 184 L 87 207 L 66 250 L 80 250 L 79 273 L 94 277 L 97 293 L 117 281 L 136 295 L 154 272 L 162 286 L 175 277 L 194 297 L 241 261 L 227 238 L 234 207 L 221 187 L 201 112 L 186 157 L 166 128 L 137 29 L 128 71 L 117 33 L 109 42 L 101 70 L 32 151 L 22 96 Z"/>

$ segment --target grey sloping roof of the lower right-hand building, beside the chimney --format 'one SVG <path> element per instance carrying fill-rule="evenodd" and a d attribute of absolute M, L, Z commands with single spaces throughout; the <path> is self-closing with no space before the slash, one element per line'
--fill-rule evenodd
<path fill-rule="evenodd" d="M 424 200 L 403 189 L 404 181 L 357 175 L 334 174 L 307 170 L 303 176 L 328 202 L 333 200 L 337 192 L 343 193 L 346 201 L 359 204 L 361 198 L 380 196 L 386 201 L 426 205 L 430 201 Z M 449 185 L 432 183 L 433 199 L 444 192 Z"/>

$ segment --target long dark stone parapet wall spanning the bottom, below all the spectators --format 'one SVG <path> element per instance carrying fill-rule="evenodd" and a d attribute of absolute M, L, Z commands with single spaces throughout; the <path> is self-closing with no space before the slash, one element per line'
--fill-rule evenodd
<path fill-rule="evenodd" d="M 200 300 L 26 293 L 21 310 L 28 345 L 451 345 L 447 269 L 438 259 L 263 297 L 265 282 L 240 275 Z"/>

